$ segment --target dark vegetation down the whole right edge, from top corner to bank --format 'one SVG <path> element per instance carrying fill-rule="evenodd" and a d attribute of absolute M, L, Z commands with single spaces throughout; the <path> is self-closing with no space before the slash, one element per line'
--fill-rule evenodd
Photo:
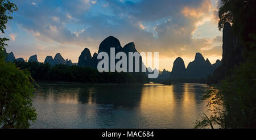
<path fill-rule="evenodd" d="M 256 128 L 256 1 L 222 0 L 219 28 L 233 24 L 234 32 L 243 43 L 243 62 L 232 73 L 212 87 L 203 99 L 209 100 L 212 115 L 201 116 L 195 128 L 210 124 L 220 128 Z"/>

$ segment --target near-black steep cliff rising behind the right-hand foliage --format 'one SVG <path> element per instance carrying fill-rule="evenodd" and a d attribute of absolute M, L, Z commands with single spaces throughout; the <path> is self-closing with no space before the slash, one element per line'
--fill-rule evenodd
<path fill-rule="evenodd" d="M 243 61 L 243 45 L 238 36 L 233 33 L 230 23 L 225 23 L 223 28 L 223 45 L 221 65 L 214 71 L 212 77 L 208 78 L 208 83 L 217 83 L 230 74 L 230 70 Z"/>

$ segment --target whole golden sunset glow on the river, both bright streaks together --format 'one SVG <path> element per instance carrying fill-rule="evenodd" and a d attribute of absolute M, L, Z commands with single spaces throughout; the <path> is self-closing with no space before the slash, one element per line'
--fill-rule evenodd
<path fill-rule="evenodd" d="M 201 100 L 201 97 L 197 96 L 201 95 L 196 95 L 196 90 L 198 89 L 195 85 L 191 84 L 144 87 L 139 104 L 141 115 L 151 124 L 165 125 L 164 123 L 180 121 L 180 125 L 188 125 L 187 122 L 195 122 L 197 115 L 206 113 L 202 112 L 206 106 L 205 101 L 201 101 L 203 106 L 197 104 L 196 100 Z M 173 127 L 177 127 L 176 124 Z"/>

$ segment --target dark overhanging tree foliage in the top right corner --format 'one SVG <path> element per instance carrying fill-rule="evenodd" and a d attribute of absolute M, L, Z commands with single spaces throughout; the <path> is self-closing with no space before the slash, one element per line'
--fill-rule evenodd
<path fill-rule="evenodd" d="M 233 31 L 236 33 L 243 43 L 253 41 L 251 34 L 256 33 L 256 1 L 254 0 L 221 0 L 220 11 L 218 16 L 218 28 L 221 30 L 224 23 L 232 24 Z M 247 50 L 255 50 L 255 48 L 248 48 Z"/>

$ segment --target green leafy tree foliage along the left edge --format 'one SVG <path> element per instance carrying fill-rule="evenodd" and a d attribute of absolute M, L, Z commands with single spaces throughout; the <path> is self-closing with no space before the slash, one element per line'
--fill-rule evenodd
<path fill-rule="evenodd" d="M 9 0 L 0 0 L 0 30 L 5 33 L 6 23 L 13 19 L 10 13 L 17 11 L 17 6 Z M 34 86 L 33 79 L 26 70 L 20 70 L 14 63 L 6 63 L 6 41 L 0 38 L 0 127 L 29 128 L 29 121 L 36 120 L 35 108 L 32 107 Z"/>

